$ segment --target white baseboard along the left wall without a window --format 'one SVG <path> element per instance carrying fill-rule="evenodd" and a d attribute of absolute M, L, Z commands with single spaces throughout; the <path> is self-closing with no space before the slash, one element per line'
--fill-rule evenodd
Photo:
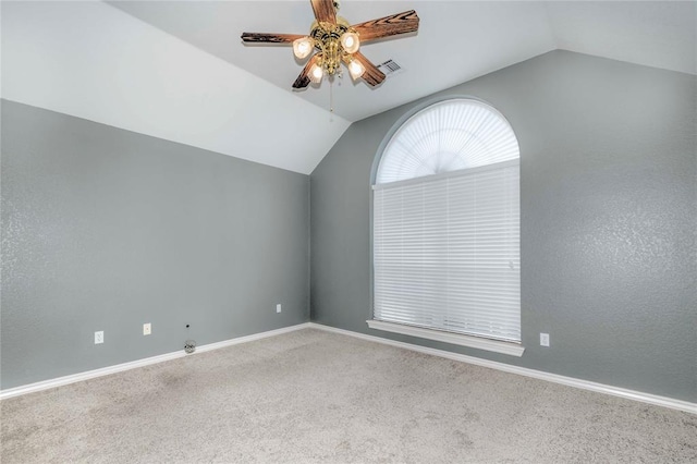
<path fill-rule="evenodd" d="M 301 329 L 307 329 L 308 327 L 309 327 L 309 322 L 298 323 L 296 326 L 283 327 L 281 329 L 269 330 L 267 332 L 254 333 L 252 335 L 239 337 L 236 339 L 196 346 L 196 352 L 192 354 L 184 353 L 184 349 L 182 347 L 182 350 L 174 353 L 161 354 L 159 356 L 152 356 L 152 357 L 146 357 L 145 359 L 133 361 L 131 363 L 118 364 L 115 366 L 102 367 L 100 369 L 88 370 L 86 373 L 80 373 L 80 374 L 73 374 L 71 376 L 59 377 L 57 379 L 42 380 L 36 383 L 29 383 L 26 386 L 20 386 L 11 389 L 0 390 L 0 400 L 7 400 L 8 398 L 20 396 L 22 394 L 34 393 L 37 391 L 48 390 L 56 387 L 62 387 L 70 383 L 80 382 L 83 380 L 108 376 L 110 374 L 122 373 L 124 370 L 136 369 L 138 367 L 163 363 L 166 361 L 176 359 L 184 356 L 194 356 L 199 353 L 206 353 L 206 352 L 219 350 L 225 346 L 232 346 L 241 343 L 253 342 L 255 340 L 267 339 L 269 337 L 280 335 L 282 333 L 293 332 Z"/>

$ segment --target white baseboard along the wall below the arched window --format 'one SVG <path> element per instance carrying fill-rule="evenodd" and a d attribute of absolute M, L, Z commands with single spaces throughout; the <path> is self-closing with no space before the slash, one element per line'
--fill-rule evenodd
<path fill-rule="evenodd" d="M 667 396 L 659 396 L 651 393 L 628 390 L 620 387 L 608 386 L 603 383 L 591 382 L 589 380 L 576 379 L 573 377 L 560 376 L 558 374 L 545 373 L 542 370 L 528 369 L 526 367 L 512 366 L 510 364 L 498 363 L 496 361 L 481 359 L 479 357 L 467 356 L 460 353 L 452 353 L 443 350 L 436 350 L 427 346 L 415 345 L 412 343 L 398 342 L 394 340 L 382 339 L 380 337 L 367 335 L 365 333 L 352 332 L 350 330 L 337 329 L 321 323 L 308 322 L 310 329 L 326 330 L 328 332 L 341 333 L 357 339 L 368 340 L 371 342 L 382 343 L 391 346 L 398 346 L 405 350 L 416 351 L 419 353 L 430 354 L 433 356 L 444 357 L 462 363 L 475 364 L 477 366 L 489 367 L 504 373 L 517 374 L 535 379 L 547 380 L 554 383 L 561 383 L 568 387 L 575 387 L 583 390 L 595 391 L 598 393 L 611 394 L 627 400 L 640 401 L 643 403 L 655 404 L 657 406 L 670 407 L 671 410 L 684 411 L 686 413 L 697 414 L 697 403 L 688 401 L 675 400 Z"/>

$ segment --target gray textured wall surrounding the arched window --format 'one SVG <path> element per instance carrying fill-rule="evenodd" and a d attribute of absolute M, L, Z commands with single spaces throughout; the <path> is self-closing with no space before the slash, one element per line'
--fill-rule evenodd
<path fill-rule="evenodd" d="M 696 93 L 695 76 L 554 51 L 437 95 L 490 102 L 518 137 L 522 358 L 367 328 L 371 164 L 428 99 L 354 123 L 310 176 L 313 320 L 697 401 Z"/>

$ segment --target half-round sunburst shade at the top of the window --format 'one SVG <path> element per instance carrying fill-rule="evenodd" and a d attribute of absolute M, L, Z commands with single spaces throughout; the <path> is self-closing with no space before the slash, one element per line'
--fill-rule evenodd
<path fill-rule="evenodd" d="M 387 144 L 376 184 L 477 168 L 519 157 L 511 124 L 468 98 L 433 103 L 412 115 Z"/>

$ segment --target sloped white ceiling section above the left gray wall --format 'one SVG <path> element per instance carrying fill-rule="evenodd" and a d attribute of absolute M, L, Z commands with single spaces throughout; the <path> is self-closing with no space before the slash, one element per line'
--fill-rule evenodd
<path fill-rule="evenodd" d="M 102 2 L 2 2 L 2 98 L 309 174 L 351 122 Z"/>

